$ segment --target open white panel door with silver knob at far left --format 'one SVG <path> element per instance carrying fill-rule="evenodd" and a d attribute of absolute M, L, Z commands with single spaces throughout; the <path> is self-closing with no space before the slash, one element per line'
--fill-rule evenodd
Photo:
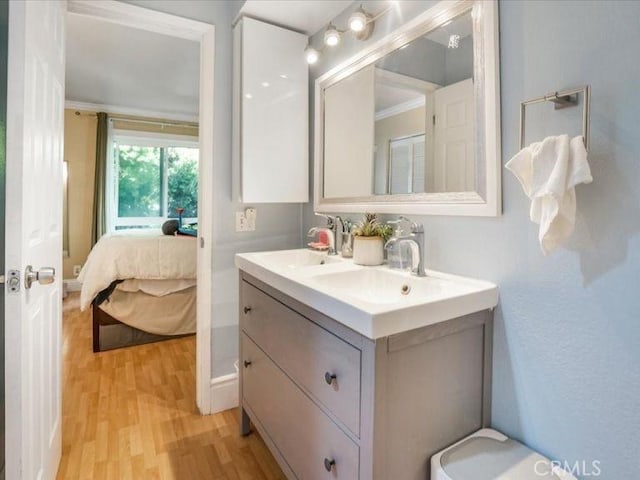
<path fill-rule="evenodd" d="M 55 478 L 61 453 L 63 1 L 9 2 L 6 477 Z M 33 265 L 41 282 L 25 285 Z M 55 269 L 46 283 L 44 267 Z M 11 292 L 10 269 L 19 272 Z"/>

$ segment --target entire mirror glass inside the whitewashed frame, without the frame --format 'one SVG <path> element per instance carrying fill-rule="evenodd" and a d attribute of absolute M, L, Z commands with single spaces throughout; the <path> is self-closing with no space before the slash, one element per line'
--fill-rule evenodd
<path fill-rule="evenodd" d="M 324 93 L 324 196 L 476 190 L 471 12 Z"/>

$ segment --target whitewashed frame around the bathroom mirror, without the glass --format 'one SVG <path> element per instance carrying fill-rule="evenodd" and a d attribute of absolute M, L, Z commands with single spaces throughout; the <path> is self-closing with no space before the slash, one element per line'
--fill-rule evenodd
<path fill-rule="evenodd" d="M 471 11 L 476 117 L 477 191 L 324 198 L 324 91 L 449 20 Z M 477 39 L 477 40 L 476 40 Z M 314 209 L 414 215 L 502 214 L 499 25 L 496 0 L 443 0 L 315 81 Z"/>

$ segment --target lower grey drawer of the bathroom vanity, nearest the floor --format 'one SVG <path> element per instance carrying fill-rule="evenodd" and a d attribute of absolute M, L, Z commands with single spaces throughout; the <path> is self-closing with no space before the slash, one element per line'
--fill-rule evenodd
<path fill-rule="evenodd" d="M 356 480 L 358 446 L 242 334 L 243 403 L 254 413 L 296 477 Z M 325 459 L 334 461 L 330 471 Z"/>

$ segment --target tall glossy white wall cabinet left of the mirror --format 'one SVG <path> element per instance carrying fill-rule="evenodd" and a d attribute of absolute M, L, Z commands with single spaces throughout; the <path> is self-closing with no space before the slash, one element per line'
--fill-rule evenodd
<path fill-rule="evenodd" d="M 234 186 L 243 203 L 309 201 L 307 40 L 248 17 L 234 29 Z"/>

